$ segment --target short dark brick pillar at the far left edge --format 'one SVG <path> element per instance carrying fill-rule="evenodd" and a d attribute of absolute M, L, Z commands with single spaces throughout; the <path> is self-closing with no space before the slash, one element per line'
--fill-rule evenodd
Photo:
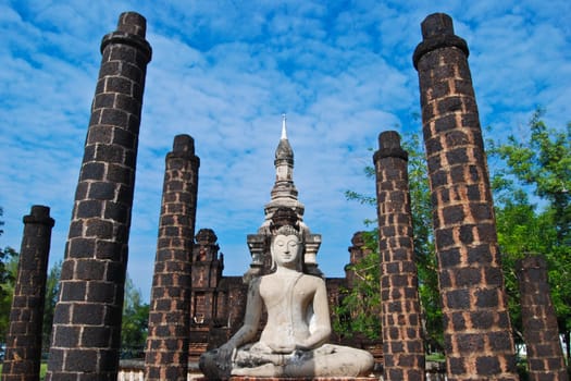
<path fill-rule="evenodd" d="M 44 298 L 53 223 L 50 208 L 44 206 L 33 206 L 29 216 L 24 217 L 24 236 L 2 366 L 3 381 L 39 379 Z"/>

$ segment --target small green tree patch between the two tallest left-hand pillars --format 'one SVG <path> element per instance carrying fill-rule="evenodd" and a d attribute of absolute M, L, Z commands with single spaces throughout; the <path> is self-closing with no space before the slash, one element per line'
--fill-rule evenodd
<path fill-rule="evenodd" d="M 121 323 L 121 356 L 140 358 L 145 351 L 149 319 L 149 305 L 142 303 L 140 291 L 126 276 L 123 320 Z"/>

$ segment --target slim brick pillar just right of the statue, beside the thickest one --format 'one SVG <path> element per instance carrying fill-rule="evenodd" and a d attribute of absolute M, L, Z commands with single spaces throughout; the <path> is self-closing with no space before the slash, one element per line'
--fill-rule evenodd
<path fill-rule="evenodd" d="M 400 136 L 378 135 L 376 173 L 385 380 L 424 380 L 424 342 L 414 263 L 408 152 Z"/>

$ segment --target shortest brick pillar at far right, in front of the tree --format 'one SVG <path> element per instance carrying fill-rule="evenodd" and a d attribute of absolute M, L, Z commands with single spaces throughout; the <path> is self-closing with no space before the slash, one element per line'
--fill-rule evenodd
<path fill-rule="evenodd" d="M 534 256 L 519 260 L 516 271 L 530 380 L 568 381 L 545 259 Z"/>

